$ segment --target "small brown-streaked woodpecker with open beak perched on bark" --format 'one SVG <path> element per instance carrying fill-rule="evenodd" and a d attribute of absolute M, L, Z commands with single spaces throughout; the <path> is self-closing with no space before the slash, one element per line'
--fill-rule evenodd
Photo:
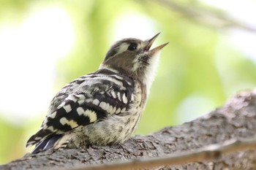
<path fill-rule="evenodd" d="M 122 143 L 134 133 L 146 106 L 160 50 L 151 39 L 116 42 L 96 72 L 65 85 L 50 102 L 39 131 L 26 147 L 50 148 Z"/>

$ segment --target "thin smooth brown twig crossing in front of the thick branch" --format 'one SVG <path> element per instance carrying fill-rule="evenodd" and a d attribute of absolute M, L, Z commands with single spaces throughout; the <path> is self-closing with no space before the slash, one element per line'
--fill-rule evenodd
<path fill-rule="evenodd" d="M 131 161 L 122 161 L 118 163 L 105 163 L 103 165 L 84 166 L 78 169 L 69 170 L 119 170 L 119 169 L 145 169 L 145 168 L 156 168 L 157 166 L 163 165 L 177 165 L 189 162 L 198 161 L 213 161 L 222 158 L 224 155 L 229 153 L 244 151 L 244 150 L 255 150 L 256 149 L 256 138 L 254 139 L 231 139 L 225 144 L 212 144 L 205 149 L 195 150 L 191 152 L 181 152 L 178 154 L 172 154 L 164 158 L 144 158 L 135 159 Z"/>

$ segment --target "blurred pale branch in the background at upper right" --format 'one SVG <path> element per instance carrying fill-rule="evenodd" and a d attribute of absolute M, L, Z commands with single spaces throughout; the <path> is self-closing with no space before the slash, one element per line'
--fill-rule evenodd
<path fill-rule="evenodd" d="M 203 6 L 200 5 L 200 3 L 184 4 L 183 2 L 174 0 L 141 0 L 140 2 L 143 6 L 146 3 L 159 4 L 163 7 L 167 7 L 167 9 L 170 9 L 173 12 L 181 14 L 184 18 L 194 20 L 197 23 L 211 28 L 240 28 L 244 31 L 256 32 L 256 27 L 252 24 L 238 20 L 238 18 L 234 18 L 221 9 L 206 7 L 206 5 Z"/>

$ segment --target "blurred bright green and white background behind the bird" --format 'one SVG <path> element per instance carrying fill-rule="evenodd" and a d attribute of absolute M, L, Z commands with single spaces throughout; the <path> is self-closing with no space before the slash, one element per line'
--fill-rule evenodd
<path fill-rule="evenodd" d="M 121 38 L 162 50 L 136 134 L 179 125 L 256 85 L 256 1 L 0 0 L 0 163 L 20 158 L 50 99 Z"/>

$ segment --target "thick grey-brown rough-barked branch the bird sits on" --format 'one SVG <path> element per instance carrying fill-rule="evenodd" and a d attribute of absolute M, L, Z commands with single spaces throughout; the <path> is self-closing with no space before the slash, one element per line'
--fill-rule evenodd
<path fill-rule="evenodd" d="M 74 169 L 134 158 L 161 157 L 198 150 L 229 139 L 256 134 L 256 90 L 243 91 L 219 109 L 189 123 L 167 127 L 147 136 L 135 136 L 124 144 L 72 150 L 48 150 L 0 166 L 0 169 Z M 216 160 L 162 166 L 154 169 L 256 169 L 256 151 L 241 151 Z"/>

